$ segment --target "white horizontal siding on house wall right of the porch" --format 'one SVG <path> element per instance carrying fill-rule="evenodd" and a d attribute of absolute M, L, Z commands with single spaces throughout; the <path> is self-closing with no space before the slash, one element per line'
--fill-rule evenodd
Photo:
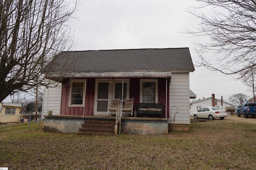
<path fill-rule="evenodd" d="M 174 113 L 178 107 L 175 123 L 190 125 L 189 73 L 172 73 L 169 94 L 170 118 L 174 119 Z"/>

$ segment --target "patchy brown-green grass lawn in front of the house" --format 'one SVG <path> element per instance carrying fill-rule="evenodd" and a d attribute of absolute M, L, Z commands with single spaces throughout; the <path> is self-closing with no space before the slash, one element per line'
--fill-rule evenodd
<path fill-rule="evenodd" d="M 41 123 L 42 124 L 42 123 Z M 38 122 L 0 125 L 0 167 L 9 170 L 255 169 L 256 125 L 191 123 L 168 135 L 82 136 L 43 132 Z"/>

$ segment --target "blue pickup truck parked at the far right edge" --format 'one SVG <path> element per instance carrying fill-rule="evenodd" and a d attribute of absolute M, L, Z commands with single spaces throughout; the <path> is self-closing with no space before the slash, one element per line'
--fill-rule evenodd
<path fill-rule="evenodd" d="M 244 118 L 248 118 L 248 116 L 255 117 L 256 116 L 256 103 L 244 103 L 244 105 L 238 106 L 237 116 L 241 117 L 241 115 L 244 115 Z"/>

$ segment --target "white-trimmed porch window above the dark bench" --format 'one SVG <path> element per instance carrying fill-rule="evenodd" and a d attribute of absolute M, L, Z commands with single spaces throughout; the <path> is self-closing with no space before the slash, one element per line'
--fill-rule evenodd
<path fill-rule="evenodd" d="M 158 79 L 140 79 L 140 103 L 158 103 Z"/>

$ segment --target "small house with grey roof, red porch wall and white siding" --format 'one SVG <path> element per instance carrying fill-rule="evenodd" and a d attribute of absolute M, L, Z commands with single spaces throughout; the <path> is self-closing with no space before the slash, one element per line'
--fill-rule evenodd
<path fill-rule="evenodd" d="M 138 111 L 136 106 L 140 103 L 163 106 L 161 115 L 123 117 L 124 133 L 143 131 L 134 132 L 128 127 L 131 123 L 125 121 L 142 123 L 152 119 L 175 123 L 175 130 L 189 130 L 189 73 L 194 71 L 194 65 L 188 48 L 64 51 L 46 69 L 46 77 L 58 83 L 44 94 L 42 115 L 46 131 L 78 131 L 63 127 L 67 124 L 61 122 L 63 119 L 111 119 L 108 105 L 118 99 L 132 99 L 132 113 Z M 52 115 L 46 115 L 49 110 Z M 75 124 L 80 128 L 82 123 Z"/>

